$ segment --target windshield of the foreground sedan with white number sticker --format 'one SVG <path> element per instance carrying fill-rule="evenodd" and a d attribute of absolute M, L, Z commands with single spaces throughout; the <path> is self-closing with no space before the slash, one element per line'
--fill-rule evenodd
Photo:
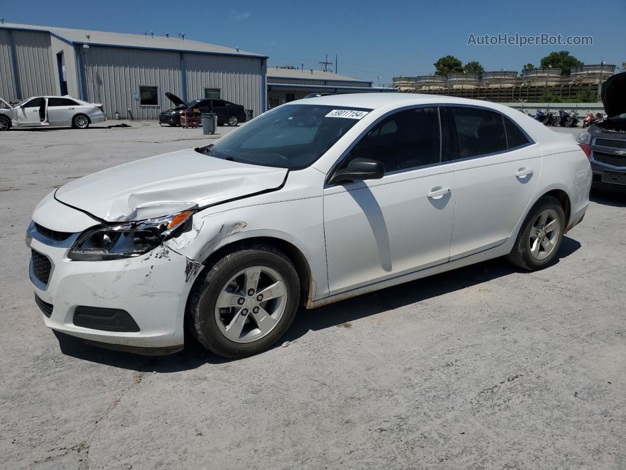
<path fill-rule="evenodd" d="M 321 105 L 275 108 L 216 144 L 198 151 L 220 159 L 302 169 L 339 140 L 371 110 Z"/>

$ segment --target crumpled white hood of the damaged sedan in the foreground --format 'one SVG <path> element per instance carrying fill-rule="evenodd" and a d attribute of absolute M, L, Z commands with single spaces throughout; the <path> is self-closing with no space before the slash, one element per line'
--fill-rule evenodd
<path fill-rule="evenodd" d="M 60 202 L 108 222 L 205 207 L 279 189 L 287 169 L 217 159 L 193 149 L 136 160 L 59 187 Z"/>

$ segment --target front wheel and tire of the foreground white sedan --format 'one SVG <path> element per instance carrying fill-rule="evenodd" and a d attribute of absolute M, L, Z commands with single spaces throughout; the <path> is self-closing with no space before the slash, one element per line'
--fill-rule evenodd
<path fill-rule="evenodd" d="M 274 345 L 294 320 L 300 281 L 273 246 L 240 246 L 205 269 L 190 294 L 187 323 L 195 338 L 223 357 Z"/>

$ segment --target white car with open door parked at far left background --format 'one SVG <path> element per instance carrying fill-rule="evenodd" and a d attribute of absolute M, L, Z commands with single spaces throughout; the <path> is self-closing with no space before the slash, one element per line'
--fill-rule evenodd
<path fill-rule="evenodd" d="M 71 97 L 33 97 L 16 105 L 0 98 L 0 131 L 11 127 L 88 128 L 106 120 L 101 104 L 87 103 Z"/>

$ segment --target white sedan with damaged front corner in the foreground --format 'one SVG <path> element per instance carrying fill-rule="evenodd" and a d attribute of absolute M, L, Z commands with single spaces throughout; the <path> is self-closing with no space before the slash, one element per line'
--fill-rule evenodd
<path fill-rule="evenodd" d="M 497 256 L 548 266 L 587 210 L 582 147 L 496 103 L 291 102 L 49 194 L 26 238 L 35 300 L 50 328 L 103 347 L 171 353 L 187 327 L 249 355 L 299 306 Z"/>

